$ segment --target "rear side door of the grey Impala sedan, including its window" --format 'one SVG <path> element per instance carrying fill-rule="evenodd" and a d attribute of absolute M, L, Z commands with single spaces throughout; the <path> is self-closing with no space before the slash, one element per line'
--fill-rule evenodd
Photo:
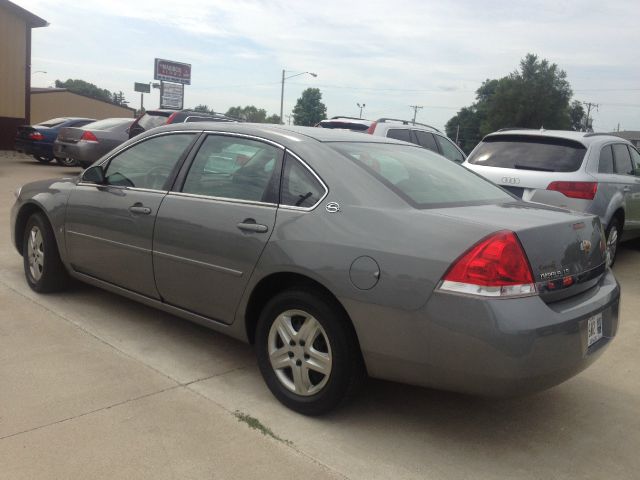
<path fill-rule="evenodd" d="M 246 136 L 202 142 L 158 212 L 153 263 L 166 303 L 233 322 L 275 224 L 282 155 Z"/>

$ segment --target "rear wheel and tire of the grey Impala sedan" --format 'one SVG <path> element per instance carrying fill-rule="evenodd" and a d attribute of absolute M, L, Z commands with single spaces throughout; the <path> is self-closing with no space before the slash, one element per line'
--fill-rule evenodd
<path fill-rule="evenodd" d="M 304 415 L 335 409 L 366 376 L 351 321 L 319 291 L 292 289 L 272 298 L 258 320 L 256 350 L 273 395 Z"/>

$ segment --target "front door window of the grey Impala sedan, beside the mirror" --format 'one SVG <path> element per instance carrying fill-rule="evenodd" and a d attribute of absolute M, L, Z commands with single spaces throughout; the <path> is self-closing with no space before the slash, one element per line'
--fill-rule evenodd
<path fill-rule="evenodd" d="M 180 133 L 152 137 L 115 156 L 105 170 L 108 185 L 166 190 L 178 160 L 195 137 Z"/>

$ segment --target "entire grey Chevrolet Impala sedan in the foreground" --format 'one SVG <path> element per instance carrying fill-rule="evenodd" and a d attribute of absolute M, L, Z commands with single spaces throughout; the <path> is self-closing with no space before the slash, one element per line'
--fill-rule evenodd
<path fill-rule="evenodd" d="M 558 384 L 618 327 L 597 216 L 523 202 L 390 138 L 169 125 L 16 192 L 36 292 L 68 275 L 255 343 L 283 404 L 372 377 L 479 395 Z"/>

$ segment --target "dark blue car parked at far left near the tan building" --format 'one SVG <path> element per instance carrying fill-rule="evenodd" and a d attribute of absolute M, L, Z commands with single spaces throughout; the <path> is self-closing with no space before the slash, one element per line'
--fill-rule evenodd
<path fill-rule="evenodd" d="M 54 159 L 53 142 L 61 128 L 82 127 L 91 122 L 95 122 L 95 120 L 92 118 L 61 117 L 52 118 L 36 125 L 18 127 L 14 148 L 18 152 L 32 155 L 41 163 L 49 163 Z M 57 157 L 56 161 L 65 166 L 75 163 L 66 157 Z"/>

